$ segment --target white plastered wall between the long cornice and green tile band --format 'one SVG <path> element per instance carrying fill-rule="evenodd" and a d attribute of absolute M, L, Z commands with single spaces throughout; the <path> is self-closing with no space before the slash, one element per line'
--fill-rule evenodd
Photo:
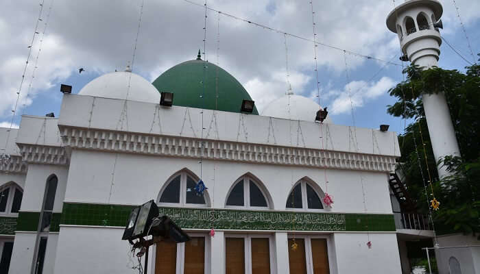
<path fill-rule="evenodd" d="M 176 171 L 186 168 L 200 177 L 200 165 L 195 159 L 116 154 L 72 151 L 65 201 L 106 203 L 113 182 L 110 203 L 139 205 L 149 199 L 157 200 L 160 189 Z M 325 191 L 322 169 L 204 160 L 202 173 L 214 208 L 224 208 L 228 190 L 245 173 L 252 173 L 261 180 L 272 197 L 275 210 L 285 210 L 291 187 L 303 177 L 309 177 Z M 331 212 L 365 212 L 363 180 L 368 212 L 392 213 L 385 173 L 331 169 L 327 176 L 328 192 L 335 201 Z"/>

